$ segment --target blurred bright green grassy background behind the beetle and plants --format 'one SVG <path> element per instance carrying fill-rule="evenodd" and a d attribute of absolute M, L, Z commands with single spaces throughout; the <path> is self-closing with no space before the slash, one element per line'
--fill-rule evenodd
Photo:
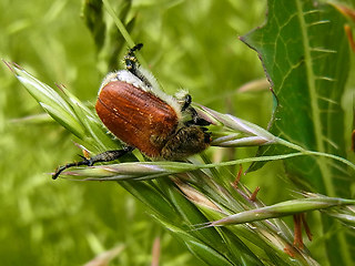
<path fill-rule="evenodd" d="M 112 1 L 118 10 L 128 2 Z M 2 0 L 0 55 L 49 85 L 64 84 L 93 106 L 110 48 L 98 54 L 81 4 Z M 272 110 L 267 88 L 237 91 L 264 78 L 257 54 L 239 35 L 261 25 L 265 10 L 261 0 L 138 0 L 128 19 L 134 18 L 131 35 L 144 43 L 141 54 L 166 92 L 189 89 L 195 102 L 265 127 Z M 124 249 L 112 265 L 150 265 L 155 237 L 162 265 L 202 265 L 116 183 L 52 181 L 49 173 L 80 153 L 74 137 L 38 116 L 42 110 L 4 64 L 0 84 L 1 265 L 81 265 L 119 245 Z M 255 151 L 210 149 L 207 154 L 219 161 Z M 272 163 L 243 182 L 251 190 L 261 186 L 261 198 L 273 204 L 290 198 L 282 174 L 281 164 Z"/>

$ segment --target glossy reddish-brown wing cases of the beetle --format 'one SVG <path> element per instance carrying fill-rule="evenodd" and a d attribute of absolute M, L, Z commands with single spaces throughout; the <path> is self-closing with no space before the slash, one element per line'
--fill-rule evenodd
<path fill-rule="evenodd" d="M 159 157 L 179 124 L 175 111 L 154 94 L 122 82 L 104 85 L 95 105 L 103 124 L 121 141 L 150 157 Z"/>

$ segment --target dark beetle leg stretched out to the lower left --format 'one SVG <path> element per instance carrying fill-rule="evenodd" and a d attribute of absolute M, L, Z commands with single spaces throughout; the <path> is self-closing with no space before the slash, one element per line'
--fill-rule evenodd
<path fill-rule="evenodd" d="M 81 156 L 83 158 L 83 161 L 68 163 L 65 165 L 59 166 L 55 170 L 55 173 L 52 175 L 52 178 L 57 180 L 58 176 L 67 168 L 74 167 L 74 166 L 81 166 L 81 165 L 92 166 L 95 163 L 111 162 L 111 161 L 118 160 L 119 157 L 123 156 L 124 154 L 126 154 L 129 152 L 132 152 L 133 150 L 134 150 L 134 147 L 126 146 L 126 147 L 123 147 L 122 150 L 112 150 L 112 151 L 106 151 L 106 152 L 100 153 L 91 158 L 85 158 L 85 157 Z"/>

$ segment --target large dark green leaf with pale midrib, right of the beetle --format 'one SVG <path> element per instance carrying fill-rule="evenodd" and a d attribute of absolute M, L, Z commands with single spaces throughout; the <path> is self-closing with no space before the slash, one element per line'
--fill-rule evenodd
<path fill-rule="evenodd" d="M 341 99 L 349 71 L 345 19 L 329 4 L 311 0 L 270 0 L 267 22 L 242 38 L 263 61 L 273 85 L 275 106 L 270 131 L 306 150 L 346 156 Z M 258 155 L 287 153 L 273 145 Z M 284 162 L 298 187 L 327 196 L 351 197 L 351 173 L 325 157 L 296 157 Z M 256 163 L 252 170 L 261 167 Z M 323 221 L 324 231 L 334 226 Z M 343 234 L 328 239 L 329 262 L 351 265 Z"/>

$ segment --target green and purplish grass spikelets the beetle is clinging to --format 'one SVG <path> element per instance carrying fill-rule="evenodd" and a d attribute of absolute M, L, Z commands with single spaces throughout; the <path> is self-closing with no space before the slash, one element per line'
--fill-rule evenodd
<path fill-rule="evenodd" d="M 14 64 L 7 64 L 42 108 L 55 121 L 77 135 L 83 144 L 99 143 L 104 145 L 104 140 L 110 140 L 109 135 L 103 134 L 105 130 L 98 125 L 99 121 L 92 112 L 63 88 L 64 94 L 60 96 L 53 89 L 38 81 L 24 70 Z M 215 139 L 219 145 L 240 146 L 241 141 L 242 144 L 245 144 L 243 140 L 247 139 L 247 146 L 253 142 L 254 145 L 282 143 L 300 150 L 298 146 L 275 137 L 250 122 L 201 106 L 200 112 L 202 110 L 205 112 L 204 115 L 211 115 L 210 119 L 214 121 L 215 126 L 220 124 L 220 127 L 232 131 L 231 135 Z M 71 120 L 62 119 L 58 115 L 60 113 L 63 117 L 71 117 Z M 78 134 L 78 132 L 84 133 Z M 217 134 L 219 132 L 213 133 L 213 135 Z M 248 134 L 252 136 L 247 136 Z M 245 136 L 235 139 L 239 135 Z M 251 137 L 252 141 L 250 141 Z M 103 147 L 108 150 L 109 145 Z M 100 151 L 100 149 L 97 147 L 95 151 Z M 197 162 L 119 163 L 70 170 L 62 175 L 73 178 L 83 176 L 84 181 L 119 181 L 126 191 L 150 207 L 156 221 L 173 232 L 192 254 L 207 265 L 314 265 L 316 263 L 310 254 L 293 247 L 287 226 L 283 223 L 265 222 L 264 219 L 331 207 L 337 207 L 331 216 L 338 218 L 341 214 L 352 216 L 352 211 L 347 209 L 343 213 L 338 208 L 343 205 L 352 205 L 354 201 L 310 195 L 311 198 L 294 200 L 264 207 L 260 201 L 251 200 L 251 192 L 242 184 L 226 183 L 225 178 L 229 175 L 221 175 L 217 170 L 217 166 L 241 164 L 248 161 L 280 160 L 311 153 L 303 151 L 303 149 L 300 151 L 298 154 L 244 158 L 219 164 Z M 355 168 L 352 163 L 334 155 L 321 153 L 318 155 L 344 161 Z M 202 168 L 211 168 L 211 172 L 203 172 Z M 143 183 L 145 180 L 156 181 Z M 213 219 L 217 221 L 207 222 Z M 257 221 L 262 222 L 255 223 Z M 191 231 L 192 226 L 201 224 L 204 226 Z M 242 226 L 234 227 L 231 232 L 214 228 L 215 226 L 236 224 L 242 224 Z M 268 235 L 267 238 L 265 238 L 265 233 Z M 240 236 L 245 239 L 242 241 Z M 255 244 L 257 244 L 257 248 L 251 246 Z M 262 249 L 260 249 L 261 247 Z"/>

